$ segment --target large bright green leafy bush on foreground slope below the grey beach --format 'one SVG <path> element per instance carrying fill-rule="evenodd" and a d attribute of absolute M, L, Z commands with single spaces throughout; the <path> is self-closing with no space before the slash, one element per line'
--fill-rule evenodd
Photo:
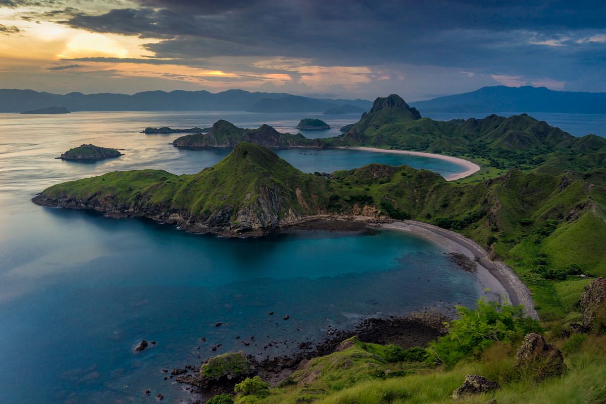
<path fill-rule="evenodd" d="M 522 306 L 501 305 L 478 300 L 478 308 L 456 306 L 458 320 L 452 320 L 448 334 L 432 342 L 427 349 L 428 360 L 454 365 L 462 359 L 479 357 L 496 342 L 514 342 L 525 334 L 539 331 L 538 321 L 524 316 Z"/>

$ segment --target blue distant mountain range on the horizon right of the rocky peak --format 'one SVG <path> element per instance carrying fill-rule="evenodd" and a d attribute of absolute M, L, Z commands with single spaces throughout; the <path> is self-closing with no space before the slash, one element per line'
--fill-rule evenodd
<path fill-rule="evenodd" d="M 562 112 L 606 113 L 606 93 L 553 91 L 545 87 L 482 87 L 470 93 L 411 105 L 422 112 Z"/>

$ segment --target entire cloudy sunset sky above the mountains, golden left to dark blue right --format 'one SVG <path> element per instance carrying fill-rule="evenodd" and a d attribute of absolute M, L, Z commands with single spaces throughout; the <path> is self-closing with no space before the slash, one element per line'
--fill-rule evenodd
<path fill-rule="evenodd" d="M 606 1 L 0 0 L 0 88 L 606 91 Z"/>

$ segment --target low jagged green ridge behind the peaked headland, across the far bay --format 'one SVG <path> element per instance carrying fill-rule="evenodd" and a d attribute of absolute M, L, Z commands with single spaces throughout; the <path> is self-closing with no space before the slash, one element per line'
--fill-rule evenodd
<path fill-rule="evenodd" d="M 264 147 L 318 147 L 318 141 L 307 139 L 300 133 L 280 133 L 269 125 L 256 129 L 238 128 L 230 122 L 220 120 L 213 124 L 208 133 L 195 133 L 178 137 L 175 147 L 235 147 L 240 142 L 251 142 Z"/>

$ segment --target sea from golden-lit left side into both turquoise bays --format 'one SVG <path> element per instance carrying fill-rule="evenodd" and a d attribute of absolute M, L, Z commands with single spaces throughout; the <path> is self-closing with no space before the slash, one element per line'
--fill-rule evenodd
<path fill-rule="evenodd" d="M 243 126 L 263 119 L 225 115 Z M 284 130 L 300 118 L 267 122 Z M 30 202 L 48 185 L 110 170 L 195 173 L 228 150 L 178 150 L 167 145 L 172 135 L 138 132 L 216 119 L 216 113 L 0 116 L 0 403 L 145 402 L 146 388 L 152 397 L 162 392 L 167 402 L 188 402 L 180 386 L 162 380 L 162 368 L 199 365 L 233 349 L 259 358 L 284 354 L 323 339 L 328 325 L 344 329 L 367 316 L 473 305 L 480 293 L 474 276 L 427 240 L 395 231 L 231 240 Z M 84 142 L 125 148 L 125 156 L 95 164 L 53 159 Z M 460 170 L 386 153 L 302 153 L 279 151 L 305 171 L 368 162 Z M 282 320 L 285 314 L 290 320 Z M 245 347 L 241 340 L 250 336 L 255 342 Z M 142 339 L 158 343 L 135 353 Z M 281 343 L 262 349 L 272 340 Z"/>

